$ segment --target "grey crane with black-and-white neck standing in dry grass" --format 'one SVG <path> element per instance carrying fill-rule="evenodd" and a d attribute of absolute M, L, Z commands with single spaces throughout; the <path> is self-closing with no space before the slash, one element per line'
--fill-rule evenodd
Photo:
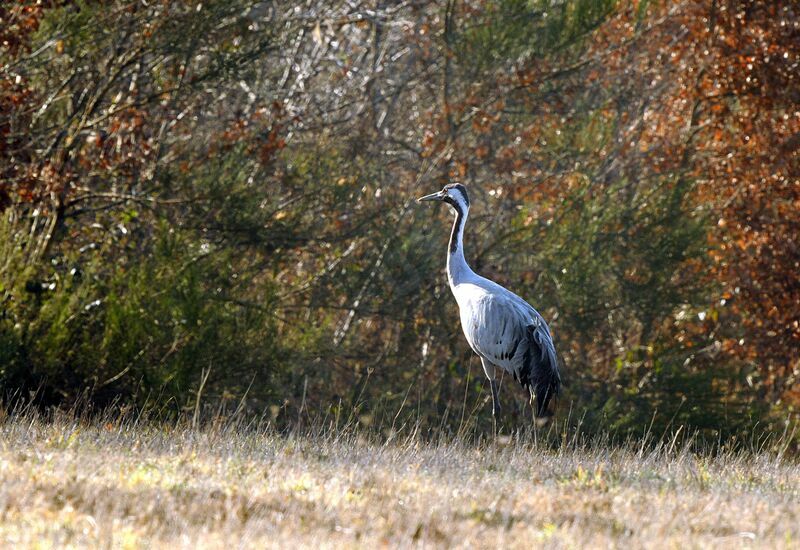
<path fill-rule="evenodd" d="M 497 283 L 481 277 L 464 259 L 464 224 L 469 195 L 460 183 L 417 199 L 442 201 L 455 210 L 447 254 L 447 279 L 458 302 L 461 328 L 469 346 L 481 358 L 492 388 L 492 414 L 500 414 L 497 371 L 510 373 L 530 392 L 537 423 L 551 416 L 550 400 L 558 395 L 561 377 L 550 328 L 528 302 Z"/>

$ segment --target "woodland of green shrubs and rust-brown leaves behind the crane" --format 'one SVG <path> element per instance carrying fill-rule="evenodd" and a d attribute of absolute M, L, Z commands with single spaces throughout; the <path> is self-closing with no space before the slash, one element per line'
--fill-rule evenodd
<path fill-rule="evenodd" d="M 413 202 L 455 180 L 472 266 L 550 321 L 561 418 L 781 432 L 798 150 L 790 0 L 3 2 L 0 386 L 485 424 L 450 213 Z"/>

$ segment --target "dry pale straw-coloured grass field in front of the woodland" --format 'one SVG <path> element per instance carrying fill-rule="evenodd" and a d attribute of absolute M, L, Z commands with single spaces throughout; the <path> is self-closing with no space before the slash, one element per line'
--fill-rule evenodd
<path fill-rule="evenodd" d="M 601 444 L 0 420 L 0 546 L 797 548 L 800 464 Z"/>

